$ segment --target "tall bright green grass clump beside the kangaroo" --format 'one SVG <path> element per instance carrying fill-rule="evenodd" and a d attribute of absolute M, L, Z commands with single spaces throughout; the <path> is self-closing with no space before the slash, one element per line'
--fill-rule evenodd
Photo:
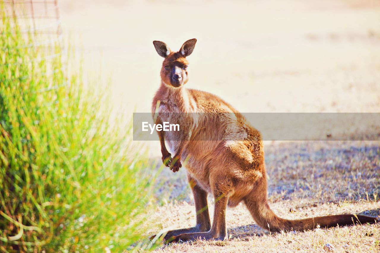
<path fill-rule="evenodd" d="M 152 191 L 131 123 L 110 119 L 109 90 L 85 88 L 72 50 L 46 59 L 19 30 L 0 19 L 0 251 L 124 250 Z"/>

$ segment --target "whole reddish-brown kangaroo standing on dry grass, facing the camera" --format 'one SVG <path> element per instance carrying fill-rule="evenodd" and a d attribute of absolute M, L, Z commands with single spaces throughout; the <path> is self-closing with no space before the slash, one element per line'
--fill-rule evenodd
<path fill-rule="evenodd" d="M 235 207 L 240 202 L 244 202 L 261 228 L 271 232 L 377 222 L 377 218 L 353 214 L 301 220 L 277 217 L 268 205 L 260 132 L 218 96 L 184 87 L 188 82 L 186 57 L 192 54 L 195 43 L 196 39 L 188 40 L 178 52 L 173 52 L 165 43 L 153 41 L 158 55 L 164 60 L 161 85 L 152 101 L 152 114 L 156 123 L 180 122 L 178 132 L 157 131 L 162 161 L 173 172 L 179 171 L 181 161 L 186 161 L 196 209 L 196 225 L 168 231 L 164 237 L 166 242 L 228 239 L 226 207 Z M 173 157 L 166 149 L 165 141 Z M 207 207 L 208 193 L 215 198 L 212 224 Z"/>

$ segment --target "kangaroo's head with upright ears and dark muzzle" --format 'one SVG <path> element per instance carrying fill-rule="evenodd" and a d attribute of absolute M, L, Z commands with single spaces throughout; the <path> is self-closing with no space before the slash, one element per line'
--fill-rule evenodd
<path fill-rule="evenodd" d="M 178 52 L 172 52 L 162 41 L 153 41 L 158 55 L 165 58 L 161 67 L 161 80 L 165 85 L 177 88 L 187 83 L 188 62 L 186 57 L 193 52 L 195 43 L 196 39 L 188 40 Z"/>

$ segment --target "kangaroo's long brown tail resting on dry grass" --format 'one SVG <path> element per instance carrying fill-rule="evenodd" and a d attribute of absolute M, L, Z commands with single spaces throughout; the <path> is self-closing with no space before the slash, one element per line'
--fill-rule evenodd
<path fill-rule="evenodd" d="M 262 201 L 258 196 L 247 196 L 244 202 L 249 209 L 256 223 L 264 229 L 272 232 L 280 231 L 304 231 L 317 228 L 330 228 L 334 226 L 345 226 L 353 224 L 375 223 L 378 221 L 375 217 L 354 214 L 330 215 L 322 217 L 306 218 L 301 220 L 286 220 L 277 217 L 269 208 L 266 197 Z"/>

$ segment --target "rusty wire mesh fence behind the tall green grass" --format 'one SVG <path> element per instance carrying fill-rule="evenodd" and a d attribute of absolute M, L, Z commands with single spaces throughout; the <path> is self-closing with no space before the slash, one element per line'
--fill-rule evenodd
<path fill-rule="evenodd" d="M 22 59 L 22 61 L 5 61 L 5 66 L 11 65 L 29 65 L 38 66 L 41 62 L 52 62 L 58 59 L 64 60 L 63 56 L 63 33 L 61 19 L 59 15 L 59 7 L 57 0 L 0 0 L 0 22 L 5 22 L 6 19 L 15 22 L 9 22 L 14 28 L 10 31 L 2 31 L 0 26 L 0 33 L 5 36 L 21 32 L 25 37 L 27 43 L 21 46 L 5 47 L 0 45 L 0 51 L 7 52 L 23 49 L 25 51 L 38 51 L 38 57 L 35 59 Z M 17 25 L 17 27 L 16 27 Z M 62 50 L 57 51 L 57 46 Z M 63 57 L 63 58 L 62 58 Z M 65 65 L 60 68 L 64 70 Z M 51 76 L 58 70 L 46 69 L 39 73 L 40 76 Z M 0 80 L 3 83 L 13 84 L 26 80 L 34 73 L 28 73 L 26 76 L 17 76 Z M 64 84 L 61 84 L 64 85 Z M 59 84 L 49 83 L 46 89 L 48 91 L 60 87 Z M 65 84 L 66 85 L 66 84 Z M 42 90 L 38 91 L 41 92 Z"/>

